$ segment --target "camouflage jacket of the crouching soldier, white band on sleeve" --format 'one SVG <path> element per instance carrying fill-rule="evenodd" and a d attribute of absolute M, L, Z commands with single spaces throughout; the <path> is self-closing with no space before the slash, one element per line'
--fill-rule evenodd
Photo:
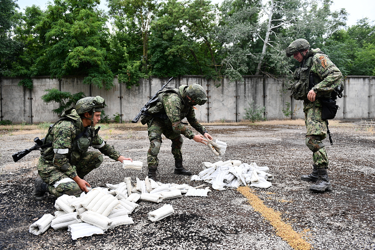
<path fill-rule="evenodd" d="M 60 119 L 49 130 L 45 144 L 52 142 L 52 147 L 41 150 L 41 158 L 47 164 L 53 164 L 73 178 L 77 175 L 75 164 L 79 162 L 90 146 L 113 160 L 120 157 L 120 153 L 108 145 L 96 132 L 95 128 L 83 127 L 81 117 L 74 108 L 66 110 Z M 76 139 L 77 135 L 83 135 Z"/>

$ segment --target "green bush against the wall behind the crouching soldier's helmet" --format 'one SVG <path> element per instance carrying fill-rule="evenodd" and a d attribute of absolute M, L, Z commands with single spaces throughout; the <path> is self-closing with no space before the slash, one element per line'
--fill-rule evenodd
<path fill-rule="evenodd" d="M 85 97 L 83 92 L 71 94 L 70 92 L 64 92 L 57 90 L 56 88 L 45 90 L 48 92 L 42 96 L 42 100 L 45 103 L 57 102 L 60 103 L 60 108 L 52 109 L 55 114 L 61 114 L 65 109 L 68 109 L 77 103 L 78 100 Z"/>

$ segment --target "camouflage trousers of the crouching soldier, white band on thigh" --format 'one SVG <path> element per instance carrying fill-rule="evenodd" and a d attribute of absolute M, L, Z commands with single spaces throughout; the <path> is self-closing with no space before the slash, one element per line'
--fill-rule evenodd
<path fill-rule="evenodd" d="M 83 153 L 81 159 L 75 164 L 78 177 L 83 179 L 93 169 L 98 168 L 102 163 L 101 158 L 102 153 L 100 152 L 88 151 Z M 45 183 L 49 184 L 47 187 L 48 193 L 56 197 L 64 194 L 78 196 L 82 193 L 78 184 L 66 175 L 66 173 L 62 172 L 58 166 L 53 165 L 52 160 L 49 161 L 40 157 L 37 169 L 39 176 Z M 62 182 L 56 186 L 56 183 L 60 181 Z"/>

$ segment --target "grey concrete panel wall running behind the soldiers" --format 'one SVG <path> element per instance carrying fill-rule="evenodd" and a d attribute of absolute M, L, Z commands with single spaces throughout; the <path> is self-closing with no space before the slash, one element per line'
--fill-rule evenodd
<path fill-rule="evenodd" d="M 49 76 L 33 78 L 32 90 L 18 86 L 22 78 L 1 78 L 1 120 L 13 123 L 53 122 L 59 115 L 52 113 L 58 103 L 45 104 L 41 97 L 46 89 L 56 88 L 71 93 L 84 92 L 86 96 L 100 95 L 108 105 L 104 111 L 113 120 L 114 115 L 121 117 L 121 122 L 129 122 L 139 113 L 167 81 L 168 78 L 150 77 L 141 79 L 138 87 L 126 88 L 114 79 L 114 87 L 102 90 L 93 85 L 83 84 L 83 78 L 66 76 L 63 79 L 50 79 Z M 348 76 L 344 80 L 344 97 L 337 100 L 340 110 L 337 119 L 374 119 L 375 84 L 374 76 Z M 264 76 L 243 76 L 243 81 L 229 84 L 228 78 L 219 81 L 206 80 L 202 76 L 187 75 L 173 78 L 168 87 L 199 84 L 207 92 L 208 102 L 196 106 L 196 118 L 199 121 L 242 121 L 245 108 L 254 101 L 257 106 L 265 106 L 265 115 L 270 119 L 304 118 L 303 102 L 294 100 L 287 90 L 283 79 Z M 217 87 L 219 86 L 219 87 Z M 290 105 L 292 114 L 284 115 L 283 109 Z"/>

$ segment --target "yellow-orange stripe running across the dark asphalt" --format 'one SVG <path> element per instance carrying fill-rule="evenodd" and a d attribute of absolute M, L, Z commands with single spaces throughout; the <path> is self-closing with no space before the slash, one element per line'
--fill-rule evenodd
<path fill-rule="evenodd" d="M 270 222 L 276 230 L 276 235 L 286 241 L 289 246 L 293 247 L 295 250 L 312 249 L 311 244 L 306 242 L 300 234 L 294 231 L 291 225 L 288 225 L 281 220 L 281 213 L 264 205 L 263 201 L 253 193 L 255 192 L 254 190 L 251 190 L 248 186 L 239 187 L 237 190 L 248 199 L 249 204 L 255 211 L 259 212 Z"/>

